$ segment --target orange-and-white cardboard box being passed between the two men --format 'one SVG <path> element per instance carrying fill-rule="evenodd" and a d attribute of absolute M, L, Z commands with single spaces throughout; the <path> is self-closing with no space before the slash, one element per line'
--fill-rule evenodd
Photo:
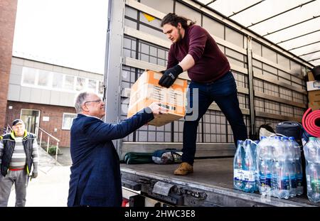
<path fill-rule="evenodd" d="M 167 114 L 156 115 L 148 124 L 162 126 L 181 119 L 186 114 L 187 81 L 177 79 L 169 88 L 158 83 L 162 73 L 145 70 L 137 82 L 131 87 L 127 117 L 131 117 L 153 102 L 159 102 L 169 109 Z"/>

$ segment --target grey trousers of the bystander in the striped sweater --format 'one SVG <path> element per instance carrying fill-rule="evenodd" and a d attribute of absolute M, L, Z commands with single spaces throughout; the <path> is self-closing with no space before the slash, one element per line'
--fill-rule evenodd
<path fill-rule="evenodd" d="M 26 205 L 27 178 L 26 170 L 9 170 L 5 177 L 0 174 L 0 207 L 8 205 L 12 185 L 16 189 L 16 207 L 24 207 Z"/>

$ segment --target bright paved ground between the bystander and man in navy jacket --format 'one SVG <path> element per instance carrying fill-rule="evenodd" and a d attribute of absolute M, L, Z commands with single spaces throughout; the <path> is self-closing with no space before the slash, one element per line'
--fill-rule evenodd
<path fill-rule="evenodd" d="M 29 182 L 26 196 L 26 207 L 65 207 L 68 199 L 70 179 L 70 149 L 62 149 L 63 155 L 55 163 L 54 158 L 46 151 L 39 149 L 40 165 L 38 178 Z M 68 155 L 68 156 L 67 156 Z M 11 190 L 8 206 L 15 204 L 15 190 Z"/>

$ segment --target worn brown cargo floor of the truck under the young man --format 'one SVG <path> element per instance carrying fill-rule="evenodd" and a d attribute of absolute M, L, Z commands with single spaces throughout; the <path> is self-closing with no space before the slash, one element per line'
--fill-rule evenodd
<path fill-rule="evenodd" d="M 239 195 L 259 195 L 256 193 L 245 193 L 233 189 L 233 158 L 206 158 L 198 159 L 193 163 L 193 173 L 187 176 L 175 176 L 174 170 L 178 164 L 158 165 L 155 163 L 145 164 L 120 164 L 122 173 L 139 173 L 140 175 L 150 178 L 160 178 L 160 180 L 173 180 L 178 183 L 185 183 L 186 185 L 197 187 L 200 189 L 221 188 Z M 320 206 L 320 203 L 311 203 L 306 195 L 289 198 L 288 200 L 272 198 L 277 202 L 284 203 L 300 203 L 306 205 Z M 290 202 L 289 202 L 290 201 Z"/>

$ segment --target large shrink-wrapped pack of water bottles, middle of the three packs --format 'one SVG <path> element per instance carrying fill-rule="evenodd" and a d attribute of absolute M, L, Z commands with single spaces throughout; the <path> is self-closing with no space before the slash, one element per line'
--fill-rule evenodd
<path fill-rule="evenodd" d="M 257 146 L 258 189 L 277 198 L 302 195 L 302 158 L 294 137 L 263 137 Z"/>

